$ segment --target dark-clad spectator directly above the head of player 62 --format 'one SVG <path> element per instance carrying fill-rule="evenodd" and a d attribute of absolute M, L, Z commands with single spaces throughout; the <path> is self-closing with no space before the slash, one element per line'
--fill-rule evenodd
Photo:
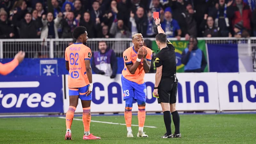
<path fill-rule="evenodd" d="M 84 17 L 79 23 L 80 26 L 84 26 L 87 29 L 88 37 L 95 38 L 96 37 L 96 29 L 100 27 L 100 24 L 95 24 L 90 17 L 89 12 L 84 12 Z"/>

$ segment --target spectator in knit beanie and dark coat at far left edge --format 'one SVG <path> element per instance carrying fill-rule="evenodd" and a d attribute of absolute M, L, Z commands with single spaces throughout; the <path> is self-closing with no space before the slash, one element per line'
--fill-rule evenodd
<path fill-rule="evenodd" d="M 0 9 L 0 38 L 15 38 L 15 28 L 8 20 L 4 8 Z"/>

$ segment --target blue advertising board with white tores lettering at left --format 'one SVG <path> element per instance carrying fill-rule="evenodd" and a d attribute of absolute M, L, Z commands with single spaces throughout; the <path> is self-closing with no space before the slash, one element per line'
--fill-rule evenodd
<path fill-rule="evenodd" d="M 61 76 L 4 76 L 0 113 L 63 112 Z"/>

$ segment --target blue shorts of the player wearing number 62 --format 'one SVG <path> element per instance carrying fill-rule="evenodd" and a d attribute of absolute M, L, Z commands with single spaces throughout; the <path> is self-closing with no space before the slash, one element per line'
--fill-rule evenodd
<path fill-rule="evenodd" d="M 88 91 L 89 84 L 84 87 L 79 88 L 68 88 L 68 95 L 79 95 L 79 99 L 81 100 L 92 100 L 92 93 L 88 96 L 85 95 L 85 92 Z"/>

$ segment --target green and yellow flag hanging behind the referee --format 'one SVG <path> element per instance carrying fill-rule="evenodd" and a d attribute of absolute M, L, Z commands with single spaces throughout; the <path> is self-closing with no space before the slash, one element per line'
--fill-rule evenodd
<path fill-rule="evenodd" d="M 184 49 L 188 47 L 188 41 L 171 41 L 173 46 L 175 47 L 176 53 L 176 63 L 177 63 L 177 72 L 181 73 L 184 72 L 184 65 L 181 63 L 181 54 Z M 197 44 L 198 48 L 204 52 L 205 59 L 207 60 L 206 48 L 205 48 L 205 41 L 198 40 Z M 152 41 L 152 49 L 153 51 L 157 51 L 156 41 Z M 206 65 L 204 72 L 208 72 L 208 65 Z"/>

